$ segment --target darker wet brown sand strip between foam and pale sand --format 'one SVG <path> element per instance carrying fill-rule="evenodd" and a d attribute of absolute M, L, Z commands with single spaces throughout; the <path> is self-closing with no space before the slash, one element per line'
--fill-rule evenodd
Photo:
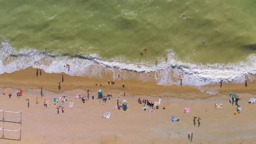
<path fill-rule="evenodd" d="M 148 75 L 148 74 L 146 74 Z M 122 76 L 122 75 L 121 75 Z M 132 95 L 148 95 L 148 96 L 160 96 L 160 97 L 178 97 L 184 99 L 194 99 L 194 98 L 210 98 L 218 95 L 229 95 L 230 93 L 248 93 L 256 94 L 254 88 L 256 82 L 250 81 L 248 87 L 244 87 L 243 84 L 235 82 L 223 83 L 223 87 L 220 88 L 220 84 L 215 85 L 204 85 L 201 87 L 193 86 L 164 86 L 158 85 L 155 82 L 140 82 L 136 80 L 124 80 L 120 77 L 120 80 L 115 79 L 115 85 L 108 85 L 108 79 L 113 79 L 111 75 L 102 74 L 101 78 L 89 78 L 81 76 L 70 76 L 64 74 L 64 82 L 61 82 L 61 89 L 58 89 L 58 83 L 61 81 L 60 74 L 49 74 L 42 70 L 42 76 L 38 75 L 36 77 L 36 70 L 32 67 L 23 69 L 13 73 L 3 73 L 0 75 L 2 83 L 0 83 L 0 88 L 2 91 L 4 88 L 22 89 L 23 92 L 27 92 L 29 89 L 38 90 L 40 95 L 39 86 L 43 86 L 43 90 L 48 90 L 50 92 L 62 93 L 69 90 L 89 89 L 90 92 L 97 92 L 98 89 L 102 89 L 103 93 L 124 93 L 127 96 Z M 102 82 L 102 86 L 100 86 Z M 122 88 L 122 83 L 125 82 L 125 88 Z M 97 86 L 95 86 L 97 83 Z M 208 94 L 213 92 L 213 95 Z"/>

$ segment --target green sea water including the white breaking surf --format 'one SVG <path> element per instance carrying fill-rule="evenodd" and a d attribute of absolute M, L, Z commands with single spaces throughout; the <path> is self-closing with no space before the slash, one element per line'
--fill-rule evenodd
<path fill-rule="evenodd" d="M 68 62 L 74 68 L 66 72 L 70 75 L 99 64 L 157 72 L 163 85 L 175 84 L 166 79 L 177 75 L 189 76 L 188 85 L 221 77 L 233 81 L 255 71 L 255 5 L 253 0 L 0 0 L 0 72 L 28 66 L 63 72 Z"/>

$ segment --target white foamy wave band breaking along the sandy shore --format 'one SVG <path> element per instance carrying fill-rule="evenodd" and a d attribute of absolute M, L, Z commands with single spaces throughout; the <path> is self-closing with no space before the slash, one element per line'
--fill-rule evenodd
<path fill-rule="evenodd" d="M 179 77 L 183 77 L 183 85 L 202 86 L 224 82 L 244 81 L 247 74 L 256 74 L 256 55 L 247 57 L 246 62 L 228 64 L 194 64 L 177 61 L 173 51 L 168 51 L 167 61 L 161 60 L 158 64 L 148 62 L 132 63 L 120 62 L 123 56 L 112 60 L 102 60 L 97 55 L 91 56 L 59 56 L 46 51 L 20 49 L 16 51 L 6 41 L 0 45 L 0 74 L 15 72 L 20 69 L 33 68 L 43 69 L 48 73 L 65 72 L 69 75 L 92 76 L 102 78 L 102 72 L 112 74 L 117 79 L 114 69 L 135 72 L 130 76 L 123 72 L 122 79 L 130 79 L 136 75 L 136 79 L 146 82 L 151 81 L 150 75 L 143 73 L 154 72 L 154 79 L 158 85 L 180 85 Z M 68 63 L 70 69 L 64 67 Z M 102 69 L 107 68 L 107 69 Z M 141 74 L 140 74 L 141 73 Z M 252 79 L 252 78 L 251 78 Z"/>

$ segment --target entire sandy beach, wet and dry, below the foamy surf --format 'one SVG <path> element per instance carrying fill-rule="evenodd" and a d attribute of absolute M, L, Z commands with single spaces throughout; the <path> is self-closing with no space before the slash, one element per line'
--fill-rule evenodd
<path fill-rule="evenodd" d="M 195 87 L 162 86 L 154 82 L 138 82 L 135 80 L 115 80 L 115 85 L 108 85 L 109 75 L 103 79 L 76 77 L 64 74 L 65 81 L 58 89 L 60 74 L 44 73 L 36 77 L 35 69 L 28 68 L 13 73 L 0 75 L 0 91 L 7 90 L 13 95 L 0 95 L 0 109 L 5 111 L 22 111 L 22 135 L 21 141 L 0 139 L 3 144 L 253 144 L 256 135 L 256 104 L 249 104 L 250 98 L 255 98 L 253 89 L 255 82 L 244 84 L 224 83 L 220 85 L 207 85 L 201 90 L 214 89 L 217 95 L 209 95 Z M 102 87 L 99 86 L 102 82 Z M 121 83 L 125 82 L 125 88 Z M 95 86 L 95 83 L 98 83 Z M 40 88 L 43 86 L 43 98 L 40 96 Z M 23 96 L 15 95 L 16 89 L 23 90 Z M 87 96 L 86 90 L 90 89 L 90 98 L 85 103 L 75 99 L 75 95 L 82 93 Z M 106 103 L 91 96 L 97 97 L 98 89 L 102 89 L 103 95 L 112 93 L 112 98 Z M 126 92 L 124 97 L 124 91 Z M 115 109 L 118 95 L 119 102 L 128 101 L 127 111 Z M 229 94 L 238 93 L 243 106 L 239 114 L 234 115 L 235 104 L 229 102 Z M 64 113 L 57 114 L 53 98 L 66 95 L 74 100 L 73 108 L 64 102 Z M 153 109 L 153 113 L 142 109 L 138 98 L 148 98 L 158 101 L 161 98 L 159 109 Z M 30 106 L 28 108 L 28 101 Z M 38 104 L 35 104 L 36 98 Z M 47 100 L 50 105 L 43 106 Z M 101 102 L 99 102 L 101 101 Z M 221 109 L 215 109 L 214 105 L 222 103 Z M 166 104 L 167 108 L 162 109 Z M 190 113 L 184 113 L 184 108 L 190 108 Z M 150 108 L 152 109 L 152 108 Z M 105 112 L 111 112 L 111 118 L 102 118 Z M 171 115 L 180 119 L 179 122 L 171 122 Z M 194 126 L 193 118 L 201 118 L 200 126 L 197 121 Z M 7 125 L 8 126 L 8 125 Z M 2 126 L 1 126 L 2 127 Z M 10 126 L 13 127 L 13 126 Z M 188 140 L 188 132 L 193 132 L 192 142 Z M 2 132 L 0 132 L 2 135 Z M 11 135 L 16 137 L 16 135 Z M 6 136 L 7 137 L 7 136 Z"/>

